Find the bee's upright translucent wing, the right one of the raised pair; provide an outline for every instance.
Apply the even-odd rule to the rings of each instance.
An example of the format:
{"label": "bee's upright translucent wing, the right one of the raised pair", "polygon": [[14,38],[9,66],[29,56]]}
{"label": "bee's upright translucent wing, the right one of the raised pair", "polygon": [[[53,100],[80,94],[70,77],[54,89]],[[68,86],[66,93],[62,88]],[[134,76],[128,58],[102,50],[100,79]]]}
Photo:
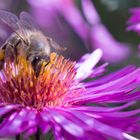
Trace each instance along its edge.
{"label": "bee's upright translucent wing, the right one of the raised pair", "polygon": [[38,25],[34,21],[34,19],[28,14],[27,12],[21,12],[20,14],[20,25],[22,25],[24,28],[31,30],[31,31],[37,31],[39,30]]}

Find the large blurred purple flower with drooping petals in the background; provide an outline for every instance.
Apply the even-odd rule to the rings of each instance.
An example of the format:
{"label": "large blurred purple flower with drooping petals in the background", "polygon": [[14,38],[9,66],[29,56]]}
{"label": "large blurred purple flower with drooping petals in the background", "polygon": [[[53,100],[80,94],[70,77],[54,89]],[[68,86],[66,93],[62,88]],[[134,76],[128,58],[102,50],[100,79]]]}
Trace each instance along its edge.
{"label": "large blurred purple flower with drooping petals in the background", "polygon": [[[72,40],[71,30],[68,25],[82,39],[86,48],[90,50],[101,48],[104,60],[117,63],[128,56],[128,45],[120,43],[112,37],[102,24],[91,0],[81,1],[81,10],[85,18],[76,6],[75,0],[28,0],[28,2],[32,6],[33,14],[39,24],[57,42],[62,43],[65,40],[64,44],[68,46],[71,53],[77,45],[75,40]],[[80,52],[79,48],[76,49]]]}

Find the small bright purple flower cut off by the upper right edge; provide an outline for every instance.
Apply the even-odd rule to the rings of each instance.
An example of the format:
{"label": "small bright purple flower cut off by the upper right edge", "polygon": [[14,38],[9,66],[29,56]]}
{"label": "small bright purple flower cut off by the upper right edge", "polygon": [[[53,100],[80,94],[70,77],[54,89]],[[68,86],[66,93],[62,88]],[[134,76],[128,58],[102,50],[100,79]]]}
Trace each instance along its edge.
{"label": "small bright purple flower cut off by the upper right edge", "polygon": [[140,33],[140,8],[132,8],[130,9],[130,13],[132,16],[128,20],[127,30],[133,30]]}

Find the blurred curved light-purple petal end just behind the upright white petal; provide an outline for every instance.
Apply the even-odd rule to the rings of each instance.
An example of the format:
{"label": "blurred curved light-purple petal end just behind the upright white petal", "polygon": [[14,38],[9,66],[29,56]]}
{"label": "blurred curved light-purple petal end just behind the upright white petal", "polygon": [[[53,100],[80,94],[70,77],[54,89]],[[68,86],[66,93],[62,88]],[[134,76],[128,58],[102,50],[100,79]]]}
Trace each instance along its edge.
{"label": "blurred curved light-purple petal end just behind the upright white petal", "polygon": [[117,42],[102,24],[92,28],[91,41],[94,48],[102,49],[104,60],[111,63],[122,61],[129,55],[128,45]]}

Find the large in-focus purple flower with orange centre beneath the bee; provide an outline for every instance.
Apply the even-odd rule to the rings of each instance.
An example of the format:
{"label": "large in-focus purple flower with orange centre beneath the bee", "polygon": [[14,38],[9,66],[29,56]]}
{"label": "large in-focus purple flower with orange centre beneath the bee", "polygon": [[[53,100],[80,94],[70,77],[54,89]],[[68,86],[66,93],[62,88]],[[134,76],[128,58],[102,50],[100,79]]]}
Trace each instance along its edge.
{"label": "large in-focus purple flower with orange centre beneath the bee", "polygon": [[105,71],[106,64],[95,67],[101,56],[97,49],[74,63],[52,53],[38,76],[23,56],[6,60],[0,71],[0,137],[37,139],[51,130],[57,140],[137,140],[130,134],[140,131],[140,110],[125,109],[140,99],[140,69],[128,66],[85,82]]}

